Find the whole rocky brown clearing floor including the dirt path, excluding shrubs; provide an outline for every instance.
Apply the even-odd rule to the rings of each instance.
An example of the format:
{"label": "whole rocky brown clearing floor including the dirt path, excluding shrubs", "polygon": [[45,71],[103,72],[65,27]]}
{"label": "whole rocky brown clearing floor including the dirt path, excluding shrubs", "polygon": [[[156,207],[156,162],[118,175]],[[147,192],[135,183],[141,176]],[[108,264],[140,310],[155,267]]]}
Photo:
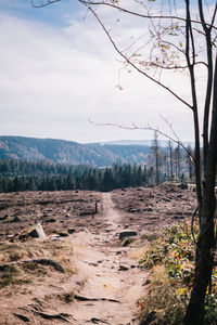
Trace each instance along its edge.
{"label": "whole rocky brown clearing floor including the dirt path, excluding shrubs", "polygon": [[[0,324],[139,324],[142,238],[194,209],[195,194],[171,184],[0,194]],[[21,236],[38,222],[46,238]]]}

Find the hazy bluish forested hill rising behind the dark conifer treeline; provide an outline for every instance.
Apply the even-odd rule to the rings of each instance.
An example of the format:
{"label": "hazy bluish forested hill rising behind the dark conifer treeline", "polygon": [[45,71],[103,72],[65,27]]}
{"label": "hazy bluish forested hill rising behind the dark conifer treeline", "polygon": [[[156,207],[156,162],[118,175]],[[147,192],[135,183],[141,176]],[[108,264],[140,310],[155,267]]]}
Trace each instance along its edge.
{"label": "hazy bluish forested hill rising behind the dark conifer treeline", "polygon": [[0,136],[0,159],[47,160],[104,167],[117,160],[144,164],[149,152],[148,145],[80,144],[54,139]]}

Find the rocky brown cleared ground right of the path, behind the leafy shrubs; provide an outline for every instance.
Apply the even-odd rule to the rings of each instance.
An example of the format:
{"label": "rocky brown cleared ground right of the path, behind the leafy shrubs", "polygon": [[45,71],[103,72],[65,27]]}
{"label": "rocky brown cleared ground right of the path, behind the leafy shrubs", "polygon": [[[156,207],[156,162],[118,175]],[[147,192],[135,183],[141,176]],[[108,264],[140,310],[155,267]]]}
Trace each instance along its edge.
{"label": "rocky brown cleared ground right of the path, behind the leafy shrubs", "polygon": [[195,192],[166,182],[153,188],[113,191],[113,200],[122,213],[122,223],[144,232],[177,221],[183,223],[196,208]]}

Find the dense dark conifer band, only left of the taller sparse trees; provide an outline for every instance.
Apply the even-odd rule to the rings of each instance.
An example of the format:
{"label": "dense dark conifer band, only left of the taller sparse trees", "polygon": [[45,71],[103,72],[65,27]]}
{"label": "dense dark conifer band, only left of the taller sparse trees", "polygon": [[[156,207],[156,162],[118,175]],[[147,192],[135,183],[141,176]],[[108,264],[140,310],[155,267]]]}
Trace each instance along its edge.
{"label": "dense dark conifer band, only left of the taller sparse trees", "polygon": [[90,190],[153,186],[153,167],[116,164],[110,168],[0,160],[0,192]]}

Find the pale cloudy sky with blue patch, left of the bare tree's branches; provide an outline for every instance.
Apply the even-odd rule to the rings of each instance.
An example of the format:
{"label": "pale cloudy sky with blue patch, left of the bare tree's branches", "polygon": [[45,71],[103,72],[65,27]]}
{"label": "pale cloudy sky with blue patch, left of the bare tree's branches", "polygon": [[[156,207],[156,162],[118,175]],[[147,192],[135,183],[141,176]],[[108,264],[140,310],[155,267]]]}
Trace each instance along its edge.
{"label": "pale cloudy sky with blue patch, left of the bare tree's branches", "polygon": [[[117,21],[111,12],[106,18],[111,25]],[[125,24],[117,34],[124,40],[145,27]],[[153,131],[95,123],[150,123],[169,132],[163,116],[182,141],[193,140],[191,110],[124,69],[98,22],[77,0],[41,9],[29,0],[1,0],[0,48],[0,135],[79,143],[152,139]],[[184,79],[167,78],[188,99]]]}

